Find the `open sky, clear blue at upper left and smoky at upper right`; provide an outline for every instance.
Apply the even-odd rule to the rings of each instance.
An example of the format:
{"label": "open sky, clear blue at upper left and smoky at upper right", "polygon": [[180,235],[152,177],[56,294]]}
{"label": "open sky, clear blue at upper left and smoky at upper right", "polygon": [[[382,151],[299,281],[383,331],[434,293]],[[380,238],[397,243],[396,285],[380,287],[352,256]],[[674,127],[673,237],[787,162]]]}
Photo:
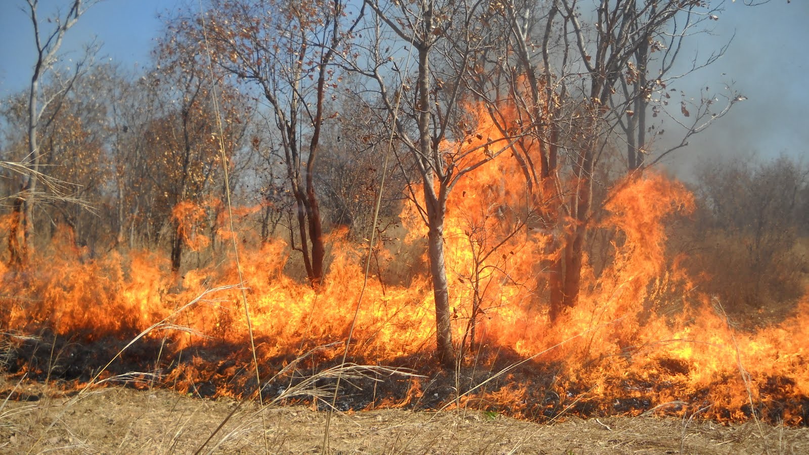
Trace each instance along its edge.
{"label": "open sky, clear blue at upper left and smoky at upper right", "polygon": [[[125,68],[147,64],[163,28],[158,13],[189,1],[104,0],[70,29],[62,49],[68,58],[78,57],[83,45],[95,37],[102,44],[99,57]],[[40,15],[60,5],[64,10],[68,3],[40,0]],[[22,90],[32,74],[33,32],[22,6],[24,0],[0,0],[0,98]],[[667,165],[679,173],[688,172],[705,157],[755,153],[767,159],[784,153],[802,159],[809,150],[809,0],[772,0],[756,7],[744,6],[743,0],[726,0],[713,34],[693,36],[693,48],[684,57],[695,52],[704,56],[734,32],[722,59],[676,87],[698,96],[698,87],[732,83],[748,100],[692,138],[687,149],[672,154]]]}

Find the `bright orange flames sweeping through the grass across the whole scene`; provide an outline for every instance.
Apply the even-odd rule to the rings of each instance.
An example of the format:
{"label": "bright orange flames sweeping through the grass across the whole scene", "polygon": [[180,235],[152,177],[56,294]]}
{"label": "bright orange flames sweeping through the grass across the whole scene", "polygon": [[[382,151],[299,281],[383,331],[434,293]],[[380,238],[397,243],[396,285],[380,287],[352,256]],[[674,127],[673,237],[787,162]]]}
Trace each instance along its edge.
{"label": "bright orange flames sweeping through the grass across the whole scene", "polygon": [[[506,141],[485,116],[477,121],[476,134],[444,147],[484,154],[490,151],[482,144],[491,143],[493,149]],[[539,265],[559,253],[547,248],[551,236],[559,233],[531,225],[531,204],[519,172],[515,157],[502,153],[453,189],[445,226],[447,274],[453,336],[456,344],[464,344],[462,363],[495,368],[502,364],[498,353],[513,352],[532,358],[526,365],[536,374],[527,375],[524,366],[520,375],[506,372],[498,381],[518,383],[480,389],[464,395],[463,402],[482,396],[515,415],[534,418],[563,410],[632,414],[661,406],[672,413],[700,410],[701,416],[723,420],[748,419],[755,412],[807,424],[809,297],[778,325],[735,327],[725,316],[724,303],[695,289],[679,266],[680,258],[667,252],[667,219],[693,209],[693,195],[683,185],[646,172],[612,189],[606,215],[594,227],[616,233],[609,244],[610,260],[599,270],[587,267],[578,305],[552,323],[543,304],[544,271]],[[413,193],[418,198],[418,190]],[[249,214],[252,209],[242,210]],[[203,213],[190,202],[174,212],[176,222],[185,226],[184,240],[194,249],[208,246],[208,237],[197,229]],[[239,240],[244,239],[241,272],[265,373],[273,364],[345,340],[369,246],[388,268],[400,266],[401,251],[420,248],[425,231],[412,202],[401,219],[407,232],[399,245],[355,245],[344,232],[332,235],[332,262],[317,291],[286,273],[294,254],[285,241],[257,245],[246,228],[236,228]],[[227,229],[219,234],[230,238]],[[88,257],[63,228],[28,270],[0,265],[2,321],[7,330],[36,334],[47,327],[78,343],[131,339],[156,321],[168,321],[173,325],[146,335],[164,340],[162,352],[173,367],[165,367],[163,381],[180,389],[213,381],[218,393],[238,395],[249,383],[244,371],[250,368],[241,291],[205,295],[177,312],[211,287],[239,283],[233,252],[221,249],[218,254],[210,265],[177,276],[158,253],[112,251]],[[349,357],[408,364],[402,359],[429,352],[434,344],[430,281],[423,275],[409,283],[385,283],[384,278],[365,284]],[[341,346],[321,351],[318,361],[337,359]],[[230,347],[232,358],[198,354],[217,347]],[[188,349],[197,354],[180,359]],[[43,367],[20,368],[36,372]],[[422,385],[413,383],[406,399],[418,393]]]}

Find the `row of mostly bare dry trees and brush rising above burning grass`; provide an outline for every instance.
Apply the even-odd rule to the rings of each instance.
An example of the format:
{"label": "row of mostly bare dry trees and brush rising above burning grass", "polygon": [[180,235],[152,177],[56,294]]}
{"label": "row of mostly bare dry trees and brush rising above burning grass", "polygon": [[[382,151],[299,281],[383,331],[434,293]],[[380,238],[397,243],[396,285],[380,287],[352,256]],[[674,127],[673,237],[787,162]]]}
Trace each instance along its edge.
{"label": "row of mostly bare dry trees and brush rising above burning grass", "polygon": [[[66,33],[84,11],[71,5],[42,19],[40,33]],[[578,303],[582,274],[609,261],[599,253],[611,241],[599,226],[609,189],[744,100],[732,87],[697,98],[675,87],[677,49],[721,6],[209,0],[168,17],[153,61],[137,72],[92,65],[91,54],[57,71],[48,56],[61,40],[42,40],[31,87],[2,104],[2,260],[24,267],[62,226],[87,257],[160,249],[176,271],[192,265],[189,250],[215,257],[233,235],[281,237],[299,278],[317,288],[328,233],[347,228],[368,241],[382,189],[376,236],[400,236],[405,206],[424,228],[439,358],[452,364],[451,195],[486,169],[508,177],[478,185],[478,206],[453,208],[468,211],[469,276],[500,270],[499,249],[520,235],[541,236],[530,273],[557,320]],[[683,248],[705,265],[705,286],[752,304],[794,297],[797,284],[777,283],[805,267],[795,249],[805,176],[786,159],[716,164],[699,176],[697,228]],[[228,202],[241,207],[237,233]],[[750,289],[711,266],[725,258]]]}

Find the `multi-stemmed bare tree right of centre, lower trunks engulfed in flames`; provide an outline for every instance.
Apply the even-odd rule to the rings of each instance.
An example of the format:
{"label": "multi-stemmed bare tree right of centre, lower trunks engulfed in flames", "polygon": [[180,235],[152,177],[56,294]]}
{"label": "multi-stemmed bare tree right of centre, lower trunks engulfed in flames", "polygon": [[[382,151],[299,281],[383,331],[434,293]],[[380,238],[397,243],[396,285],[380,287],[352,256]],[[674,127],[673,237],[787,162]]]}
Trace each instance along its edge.
{"label": "multi-stemmed bare tree right of centre, lower trunks engulfed in flames", "polygon": [[[716,7],[701,1],[615,0],[586,7],[578,0],[498,4],[489,23],[506,39],[487,46],[481,58],[489,70],[467,79],[504,134],[511,118],[522,125],[517,134],[523,139],[515,142],[513,155],[540,214],[538,228],[552,239],[541,267],[552,320],[578,301],[587,232],[598,213],[595,175],[605,151],[625,142],[629,171],[642,170],[651,139],[663,134],[649,125],[650,105],[652,117],[667,113],[667,78],[683,41],[701,23],[718,18]],[[709,65],[723,51],[694,61],[685,72]],[[667,113],[685,133],[649,165],[687,145],[741,99],[731,93],[717,106],[716,96],[701,95],[696,108],[683,95],[680,112]],[[619,128],[623,137],[614,133]]]}

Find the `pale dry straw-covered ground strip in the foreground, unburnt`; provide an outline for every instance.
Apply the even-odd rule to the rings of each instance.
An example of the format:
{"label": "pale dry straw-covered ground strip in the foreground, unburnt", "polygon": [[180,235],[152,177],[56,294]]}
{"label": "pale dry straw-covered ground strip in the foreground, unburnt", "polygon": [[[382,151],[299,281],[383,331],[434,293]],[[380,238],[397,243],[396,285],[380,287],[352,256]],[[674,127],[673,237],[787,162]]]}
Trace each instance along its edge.
{"label": "pale dry straw-covered ground strip in the foreground, unburnt", "polygon": [[[40,383],[5,382],[0,389],[0,453],[323,449],[326,414],[303,406],[268,408],[163,389],[112,387],[72,396]],[[388,409],[333,415],[328,453],[797,454],[809,453],[809,428],[725,426],[654,416],[568,418],[540,425],[471,410]]]}

